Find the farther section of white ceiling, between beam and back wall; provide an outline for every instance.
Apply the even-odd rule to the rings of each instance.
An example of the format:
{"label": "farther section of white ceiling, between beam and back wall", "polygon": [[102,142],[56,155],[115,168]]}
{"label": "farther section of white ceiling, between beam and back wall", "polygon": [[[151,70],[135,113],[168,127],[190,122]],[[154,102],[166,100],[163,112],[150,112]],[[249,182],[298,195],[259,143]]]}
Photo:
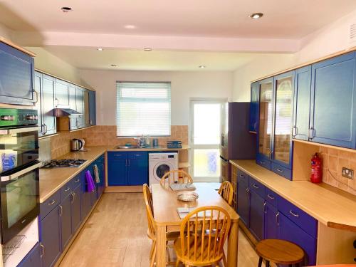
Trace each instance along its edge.
{"label": "farther section of white ceiling, between beam and back wall", "polygon": [[[76,68],[102,70],[236,70],[263,55],[197,51],[146,52],[115,48],[97,51],[96,48],[75,46],[48,46],[45,49]],[[199,68],[201,65],[206,68]]]}

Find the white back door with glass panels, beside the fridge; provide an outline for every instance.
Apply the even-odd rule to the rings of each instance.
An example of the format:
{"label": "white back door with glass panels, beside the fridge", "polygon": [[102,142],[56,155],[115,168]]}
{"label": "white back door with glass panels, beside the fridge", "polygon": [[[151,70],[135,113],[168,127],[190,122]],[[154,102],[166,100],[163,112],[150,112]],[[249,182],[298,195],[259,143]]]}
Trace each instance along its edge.
{"label": "white back door with glass panels, beside the fridge", "polygon": [[191,147],[194,181],[219,182],[223,101],[192,101]]}

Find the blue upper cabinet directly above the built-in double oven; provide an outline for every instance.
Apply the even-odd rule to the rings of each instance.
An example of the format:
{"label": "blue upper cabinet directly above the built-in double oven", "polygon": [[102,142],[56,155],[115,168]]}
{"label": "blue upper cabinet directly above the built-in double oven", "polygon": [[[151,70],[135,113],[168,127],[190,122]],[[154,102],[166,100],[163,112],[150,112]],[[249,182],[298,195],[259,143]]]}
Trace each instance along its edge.
{"label": "blue upper cabinet directly above the built-in double oven", "polygon": [[34,60],[0,42],[0,103],[34,105]]}

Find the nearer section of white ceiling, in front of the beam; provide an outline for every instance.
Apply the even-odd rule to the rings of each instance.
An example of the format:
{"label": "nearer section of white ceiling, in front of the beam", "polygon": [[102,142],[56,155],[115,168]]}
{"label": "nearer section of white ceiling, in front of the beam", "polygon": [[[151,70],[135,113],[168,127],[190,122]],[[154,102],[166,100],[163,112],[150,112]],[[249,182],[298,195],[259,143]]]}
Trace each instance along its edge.
{"label": "nearer section of white ceiling, in front of the beam", "polygon": [[[355,0],[2,0],[0,23],[15,31],[300,38],[354,9]],[[253,12],[265,16],[248,18]]]}

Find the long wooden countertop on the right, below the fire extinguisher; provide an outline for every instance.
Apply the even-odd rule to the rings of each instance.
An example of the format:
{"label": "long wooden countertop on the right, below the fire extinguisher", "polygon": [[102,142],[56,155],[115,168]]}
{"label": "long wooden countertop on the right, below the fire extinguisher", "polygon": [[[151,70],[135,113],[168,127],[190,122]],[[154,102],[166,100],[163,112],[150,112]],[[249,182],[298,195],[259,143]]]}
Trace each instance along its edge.
{"label": "long wooden countertop on the right, below the fire extinguisher", "polygon": [[289,181],[259,166],[255,160],[230,162],[320,223],[336,229],[356,231],[356,197],[352,194],[324,183]]}

